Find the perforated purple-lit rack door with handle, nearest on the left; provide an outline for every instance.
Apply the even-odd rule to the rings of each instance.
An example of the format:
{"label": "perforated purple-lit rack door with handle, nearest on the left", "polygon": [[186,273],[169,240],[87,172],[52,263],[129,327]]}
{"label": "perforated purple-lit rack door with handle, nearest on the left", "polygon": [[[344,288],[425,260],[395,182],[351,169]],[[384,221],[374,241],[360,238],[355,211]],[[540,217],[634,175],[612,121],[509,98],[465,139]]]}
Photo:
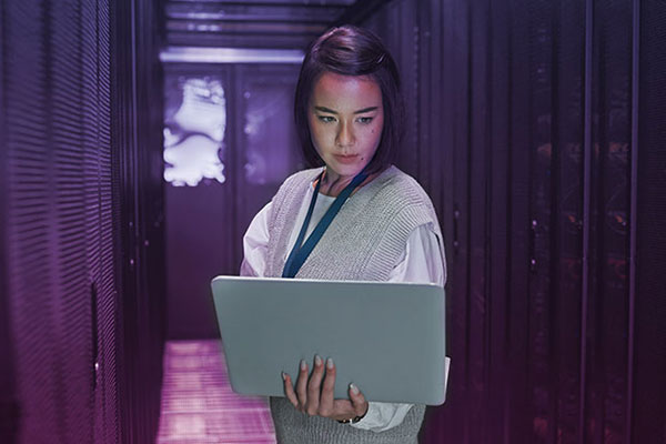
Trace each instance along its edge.
{"label": "perforated purple-lit rack door with handle, nearest on the left", "polygon": [[12,434],[117,442],[109,4],[2,8]]}

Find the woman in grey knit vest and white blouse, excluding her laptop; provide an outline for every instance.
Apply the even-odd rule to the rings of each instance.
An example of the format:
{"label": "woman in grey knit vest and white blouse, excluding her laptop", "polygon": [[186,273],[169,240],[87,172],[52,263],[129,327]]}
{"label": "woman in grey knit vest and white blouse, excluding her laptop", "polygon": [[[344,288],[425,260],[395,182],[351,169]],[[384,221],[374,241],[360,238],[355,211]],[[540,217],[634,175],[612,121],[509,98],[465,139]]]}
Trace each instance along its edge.
{"label": "woman in grey knit vest and white blouse, excluding her laptop", "polygon": [[[287,178],[244,236],[242,275],[432,282],[444,285],[442,234],[418,183],[391,164],[404,113],[393,58],[370,31],[345,26],[310,47],[295,122],[312,169]],[[312,234],[312,235],[311,235]],[[306,333],[306,332],[304,332]],[[334,334],[334,332],[332,332]],[[325,356],[324,356],[325,357]],[[271,398],[279,443],[415,443],[424,405],[334,400],[335,363],[300,363]]]}

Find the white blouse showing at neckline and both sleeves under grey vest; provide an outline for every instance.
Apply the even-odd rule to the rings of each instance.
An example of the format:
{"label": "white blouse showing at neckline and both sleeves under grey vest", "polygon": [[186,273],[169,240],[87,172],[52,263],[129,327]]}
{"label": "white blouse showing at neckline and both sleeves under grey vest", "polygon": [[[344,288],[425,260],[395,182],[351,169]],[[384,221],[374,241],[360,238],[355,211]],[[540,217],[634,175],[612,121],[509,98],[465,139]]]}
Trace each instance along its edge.
{"label": "white blouse showing at neckline and both sleeves under grey vest", "polygon": [[[300,228],[307,214],[313,192],[313,186],[311,186],[305,199],[303,199],[299,216],[294,222],[294,230],[291,233],[289,243],[291,246],[289,251],[284,252],[284,258],[286,258],[291,248],[296,242]],[[307,239],[334,200],[334,196],[319,193],[304,240]],[[245,232],[243,238],[244,259],[241,264],[242,276],[264,275],[266,266],[265,255],[270,236],[268,221],[271,205],[272,202],[269,202],[254,216]],[[432,223],[414,229],[407,240],[405,251],[389,275],[389,282],[435,283],[444,286],[446,275],[438,245],[441,241],[433,231]],[[360,389],[363,391],[363,387]],[[370,402],[366,415],[359,423],[352,424],[352,426],[373,432],[383,432],[400,425],[411,407],[412,404]]]}

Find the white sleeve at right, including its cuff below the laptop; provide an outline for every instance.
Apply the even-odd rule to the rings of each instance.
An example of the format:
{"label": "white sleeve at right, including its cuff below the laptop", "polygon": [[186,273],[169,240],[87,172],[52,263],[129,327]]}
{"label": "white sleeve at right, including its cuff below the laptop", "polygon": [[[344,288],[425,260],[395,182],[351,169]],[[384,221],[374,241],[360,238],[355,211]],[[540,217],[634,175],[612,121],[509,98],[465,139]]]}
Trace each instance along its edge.
{"label": "white sleeve at right, including its cuff below the laptop", "polygon": [[[446,264],[440,250],[441,239],[432,223],[420,225],[407,240],[407,245],[397,261],[389,282],[435,283],[444,286]],[[400,425],[413,404],[370,402],[367,413],[353,427],[372,432],[384,432]]]}

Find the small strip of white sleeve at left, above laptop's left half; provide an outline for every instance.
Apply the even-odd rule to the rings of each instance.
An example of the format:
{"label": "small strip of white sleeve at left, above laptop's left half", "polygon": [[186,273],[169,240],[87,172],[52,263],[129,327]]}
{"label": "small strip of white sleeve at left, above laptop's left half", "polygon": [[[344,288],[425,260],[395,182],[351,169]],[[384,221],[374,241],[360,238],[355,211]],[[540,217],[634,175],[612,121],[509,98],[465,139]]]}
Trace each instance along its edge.
{"label": "small strip of white sleeve at left, above laptop's left half", "polygon": [[262,278],[266,270],[266,249],[269,245],[269,215],[273,202],[269,202],[248,226],[243,236],[243,262],[241,276]]}

